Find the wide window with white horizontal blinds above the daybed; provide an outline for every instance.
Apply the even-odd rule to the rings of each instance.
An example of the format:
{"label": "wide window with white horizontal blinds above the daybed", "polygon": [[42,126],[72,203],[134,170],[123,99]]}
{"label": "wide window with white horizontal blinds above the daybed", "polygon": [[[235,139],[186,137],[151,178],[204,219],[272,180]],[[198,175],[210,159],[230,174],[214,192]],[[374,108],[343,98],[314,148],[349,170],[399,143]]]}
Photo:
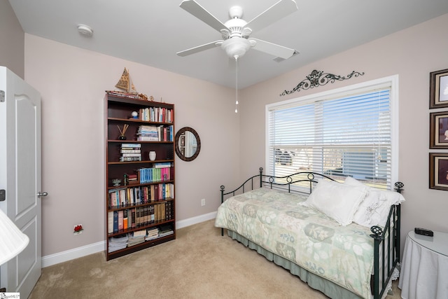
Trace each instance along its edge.
{"label": "wide window with white horizontal blinds above the daybed", "polygon": [[266,106],[267,174],[345,176],[391,189],[398,174],[398,76]]}

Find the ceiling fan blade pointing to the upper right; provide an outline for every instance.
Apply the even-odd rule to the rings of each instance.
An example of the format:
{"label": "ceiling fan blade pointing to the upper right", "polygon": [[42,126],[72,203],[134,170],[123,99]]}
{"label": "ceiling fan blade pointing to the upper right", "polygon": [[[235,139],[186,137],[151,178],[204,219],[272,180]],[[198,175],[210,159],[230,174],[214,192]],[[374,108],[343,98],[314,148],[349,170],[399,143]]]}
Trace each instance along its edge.
{"label": "ceiling fan blade pointing to the upper right", "polygon": [[253,18],[244,27],[250,28],[252,31],[260,30],[295,11],[297,11],[297,4],[294,0],[280,0],[273,6],[267,8],[266,11]]}

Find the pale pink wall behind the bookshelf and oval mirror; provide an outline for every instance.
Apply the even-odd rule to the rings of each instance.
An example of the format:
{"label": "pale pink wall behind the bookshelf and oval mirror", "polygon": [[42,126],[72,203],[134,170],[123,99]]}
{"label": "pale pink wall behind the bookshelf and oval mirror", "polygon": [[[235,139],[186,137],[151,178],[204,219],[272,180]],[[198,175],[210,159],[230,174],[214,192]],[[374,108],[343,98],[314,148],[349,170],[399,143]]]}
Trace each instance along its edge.
{"label": "pale pink wall behind the bookshelf and oval mirror", "polygon": [[[234,90],[29,34],[25,41],[25,78],[42,96],[43,256],[105,239],[104,91],[125,67],[137,91],[175,104],[176,130],[200,134],[199,157],[176,158],[177,221],[216,211],[219,186],[237,183]],[[73,236],[78,223],[83,234]]]}

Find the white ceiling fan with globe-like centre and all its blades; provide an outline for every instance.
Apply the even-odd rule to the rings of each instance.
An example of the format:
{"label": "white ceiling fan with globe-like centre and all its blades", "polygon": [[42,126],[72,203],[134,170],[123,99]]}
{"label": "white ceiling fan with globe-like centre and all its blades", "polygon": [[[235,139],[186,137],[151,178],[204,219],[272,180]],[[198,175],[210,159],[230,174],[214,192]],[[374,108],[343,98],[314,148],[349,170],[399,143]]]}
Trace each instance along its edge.
{"label": "white ceiling fan with globe-like centre and all its blades", "polygon": [[243,15],[241,6],[232,6],[230,8],[230,20],[225,23],[215,18],[214,15],[206,11],[195,0],[184,0],[180,6],[188,13],[202,20],[202,22],[221,32],[223,39],[180,51],[176,53],[179,56],[191,55],[218,46],[221,46],[225,53],[229,57],[235,58],[235,60],[243,56],[250,48],[273,55],[275,57],[274,60],[286,60],[298,53],[294,49],[250,37],[252,32],[267,27],[273,22],[286,17],[286,15],[297,11],[297,4],[294,0],[280,0],[249,22],[241,18]]}

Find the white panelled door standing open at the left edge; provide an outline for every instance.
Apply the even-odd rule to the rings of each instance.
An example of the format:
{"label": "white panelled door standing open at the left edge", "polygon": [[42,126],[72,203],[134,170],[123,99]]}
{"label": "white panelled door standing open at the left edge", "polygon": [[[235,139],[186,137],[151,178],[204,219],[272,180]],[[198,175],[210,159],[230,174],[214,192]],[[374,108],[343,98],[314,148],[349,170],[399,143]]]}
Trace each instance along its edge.
{"label": "white panelled door standing open at the left edge", "polygon": [[[0,266],[0,288],[28,298],[41,276],[41,95],[0,67],[0,198],[29,237],[27,248]],[[1,241],[0,241],[1,242]]]}

